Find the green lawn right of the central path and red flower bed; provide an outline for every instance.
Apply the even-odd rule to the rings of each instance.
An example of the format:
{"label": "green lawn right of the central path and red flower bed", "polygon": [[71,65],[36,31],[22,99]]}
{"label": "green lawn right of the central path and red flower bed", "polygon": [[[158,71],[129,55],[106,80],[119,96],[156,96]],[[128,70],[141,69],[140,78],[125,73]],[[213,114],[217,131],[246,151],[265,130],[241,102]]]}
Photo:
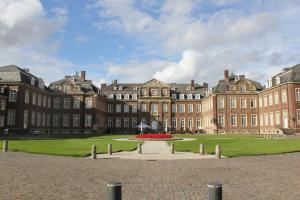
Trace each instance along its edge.
{"label": "green lawn right of the central path and red flower bed", "polygon": [[194,141],[176,141],[176,151],[199,152],[199,145],[205,145],[205,152],[213,154],[220,144],[222,155],[227,157],[278,154],[300,151],[300,138],[263,139],[261,136],[247,135],[176,135],[195,138]]}

